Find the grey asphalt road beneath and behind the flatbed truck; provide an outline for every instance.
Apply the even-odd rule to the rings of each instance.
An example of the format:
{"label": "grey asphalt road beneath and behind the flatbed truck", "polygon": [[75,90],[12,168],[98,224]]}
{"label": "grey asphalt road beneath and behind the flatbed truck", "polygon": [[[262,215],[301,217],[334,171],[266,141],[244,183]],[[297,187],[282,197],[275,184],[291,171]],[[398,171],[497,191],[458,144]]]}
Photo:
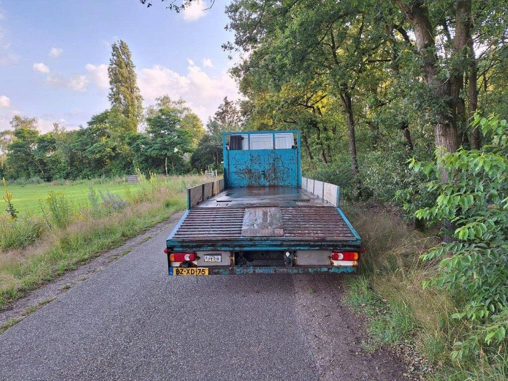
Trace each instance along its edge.
{"label": "grey asphalt road beneath and behind the flatbed truck", "polygon": [[0,379],[402,379],[360,353],[337,276],[170,277],[170,230],[0,335]]}

